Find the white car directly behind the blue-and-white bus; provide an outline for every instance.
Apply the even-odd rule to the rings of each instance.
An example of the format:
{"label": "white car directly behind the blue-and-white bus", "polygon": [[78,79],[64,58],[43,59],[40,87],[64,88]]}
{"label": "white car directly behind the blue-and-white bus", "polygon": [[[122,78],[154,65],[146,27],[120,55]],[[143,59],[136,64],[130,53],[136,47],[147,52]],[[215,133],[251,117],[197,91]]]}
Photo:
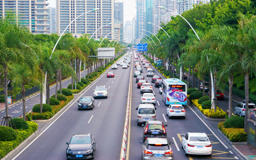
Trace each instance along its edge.
{"label": "white car directly behind the blue-and-white bus", "polygon": [[186,111],[181,104],[170,104],[166,108],[166,115],[169,119],[172,117],[183,117],[185,119]]}

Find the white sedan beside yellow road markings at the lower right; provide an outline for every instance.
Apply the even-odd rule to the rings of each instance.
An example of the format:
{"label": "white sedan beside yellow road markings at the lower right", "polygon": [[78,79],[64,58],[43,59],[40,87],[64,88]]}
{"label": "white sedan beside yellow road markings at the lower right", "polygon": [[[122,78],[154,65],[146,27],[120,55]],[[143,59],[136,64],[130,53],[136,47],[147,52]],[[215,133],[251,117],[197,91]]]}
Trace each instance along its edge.
{"label": "white sedan beside yellow road markings at the lower right", "polygon": [[206,154],[211,156],[212,147],[209,137],[205,133],[186,133],[181,136],[182,148],[185,155],[188,154]]}

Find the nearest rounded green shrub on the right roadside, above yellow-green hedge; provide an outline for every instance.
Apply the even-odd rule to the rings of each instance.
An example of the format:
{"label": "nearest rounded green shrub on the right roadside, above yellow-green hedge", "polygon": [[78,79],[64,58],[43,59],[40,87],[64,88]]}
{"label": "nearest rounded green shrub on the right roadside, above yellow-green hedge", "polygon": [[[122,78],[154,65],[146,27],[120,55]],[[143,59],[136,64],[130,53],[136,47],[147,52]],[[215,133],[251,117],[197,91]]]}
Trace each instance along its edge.
{"label": "nearest rounded green shrub on the right roadside, above yellow-green hedge", "polygon": [[225,128],[244,128],[244,118],[232,116],[224,122]]}

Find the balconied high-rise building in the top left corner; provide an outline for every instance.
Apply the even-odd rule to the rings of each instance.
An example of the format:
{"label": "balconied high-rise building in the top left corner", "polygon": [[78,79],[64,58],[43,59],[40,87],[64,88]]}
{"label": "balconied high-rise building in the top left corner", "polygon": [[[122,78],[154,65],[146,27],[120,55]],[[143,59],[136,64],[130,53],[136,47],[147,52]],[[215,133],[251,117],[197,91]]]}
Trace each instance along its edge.
{"label": "balconied high-rise building in the top left corner", "polygon": [[18,23],[32,33],[49,33],[48,0],[0,1],[0,18],[8,12],[17,15]]}

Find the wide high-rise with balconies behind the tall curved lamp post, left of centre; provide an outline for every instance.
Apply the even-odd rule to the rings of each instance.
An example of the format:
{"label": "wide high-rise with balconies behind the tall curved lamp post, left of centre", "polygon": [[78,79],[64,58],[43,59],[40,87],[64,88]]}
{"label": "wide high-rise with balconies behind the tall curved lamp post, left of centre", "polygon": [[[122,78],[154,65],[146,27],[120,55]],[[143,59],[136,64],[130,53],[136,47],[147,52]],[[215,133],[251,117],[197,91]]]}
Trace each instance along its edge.
{"label": "wide high-rise with balconies behind the tall curved lamp post, left of centre", "polygon": [[[94,12],[84,14],[94,8],[99,8]],[[114,0],[58,0],[56,1],[57,33],[62,33],[65,28],[76,17],[80,16],[68,27],[67,33],[72,33],[75,37],[82,34],[95,35],[93,38],[99,39],[110,32],[106,38],[114,37]],[[112,23],[112,25],[105,26]],[[102,26],[105,26],[101,28]]]}

